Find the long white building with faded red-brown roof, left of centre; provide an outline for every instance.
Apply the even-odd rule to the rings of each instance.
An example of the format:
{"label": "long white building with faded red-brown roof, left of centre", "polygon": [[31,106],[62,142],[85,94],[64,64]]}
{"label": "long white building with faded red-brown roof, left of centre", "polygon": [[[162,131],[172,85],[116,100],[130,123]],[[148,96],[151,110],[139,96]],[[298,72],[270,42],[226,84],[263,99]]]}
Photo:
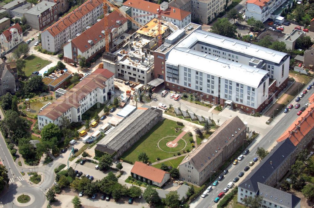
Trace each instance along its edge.
{"label": "long white building with faded red-brown roof, left of centre", "polygon": [[62,116],[71,123],[81,121],[82,114],[96,103],[104,103],[111,90],[114,90],[114,74],[106,69],[95,70],[52,104],[43,107],[37,114],[39,130],[48,123],[60,126]]}

